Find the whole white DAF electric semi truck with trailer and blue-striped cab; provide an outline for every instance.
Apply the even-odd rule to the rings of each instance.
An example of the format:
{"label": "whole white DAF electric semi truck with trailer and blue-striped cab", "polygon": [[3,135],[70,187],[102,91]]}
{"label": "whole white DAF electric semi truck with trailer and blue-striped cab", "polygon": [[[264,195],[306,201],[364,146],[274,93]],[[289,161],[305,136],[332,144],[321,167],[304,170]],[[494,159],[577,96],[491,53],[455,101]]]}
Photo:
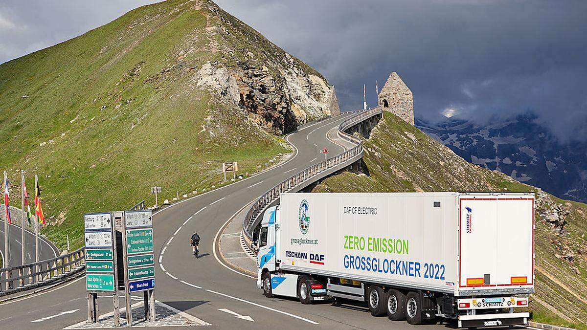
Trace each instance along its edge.
{"label": "whole white DAF electric semi truck with trailer and blue-striped cab", "polygon": [[265,211],[257,286],[366,302],[417,325],[527,324],[534,193],[286,193]]}

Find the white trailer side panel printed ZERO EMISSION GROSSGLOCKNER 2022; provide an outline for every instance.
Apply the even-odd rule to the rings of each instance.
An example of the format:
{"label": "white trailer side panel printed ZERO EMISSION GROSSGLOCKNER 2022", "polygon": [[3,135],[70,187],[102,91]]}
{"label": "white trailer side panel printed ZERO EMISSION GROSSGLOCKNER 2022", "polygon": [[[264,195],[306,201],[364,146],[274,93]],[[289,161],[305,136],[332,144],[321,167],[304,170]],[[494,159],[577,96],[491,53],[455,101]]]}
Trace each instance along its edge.
{"label": "white trailer side panel printed ZERO EMISSION GROSSGLOCKNER 2022", "polygon": [[455,292],[457,193],[291,193],[280,203],[284,270]]}

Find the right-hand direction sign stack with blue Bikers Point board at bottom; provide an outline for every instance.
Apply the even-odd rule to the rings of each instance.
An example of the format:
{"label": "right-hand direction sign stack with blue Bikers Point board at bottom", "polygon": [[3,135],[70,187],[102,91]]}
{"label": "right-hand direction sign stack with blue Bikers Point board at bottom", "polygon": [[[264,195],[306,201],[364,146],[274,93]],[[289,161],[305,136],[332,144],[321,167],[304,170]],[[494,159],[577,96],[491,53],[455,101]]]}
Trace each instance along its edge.
{"label": "right-hand direction sign stack with blue Bikers Point board at bottom", "polygon": [[124,211],[122,221],[126,322],[132,326],[130,294],[143,292],[145,319],[155,321],[155,257],[153,254],[153,213]]}

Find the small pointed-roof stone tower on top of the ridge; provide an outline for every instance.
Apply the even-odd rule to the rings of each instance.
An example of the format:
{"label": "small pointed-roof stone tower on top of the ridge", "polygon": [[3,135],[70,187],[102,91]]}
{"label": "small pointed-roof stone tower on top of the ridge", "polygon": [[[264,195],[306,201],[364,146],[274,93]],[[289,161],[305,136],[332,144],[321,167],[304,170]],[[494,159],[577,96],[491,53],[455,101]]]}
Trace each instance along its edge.
{"label": "small pointed-roof stone tower on top of the ridge", "polygon": [[396,72],[387,78],[385,86],[377,95],[377,102],[383,110],[392,112],[406,122],[414,124],[414,98],[411,90]]}

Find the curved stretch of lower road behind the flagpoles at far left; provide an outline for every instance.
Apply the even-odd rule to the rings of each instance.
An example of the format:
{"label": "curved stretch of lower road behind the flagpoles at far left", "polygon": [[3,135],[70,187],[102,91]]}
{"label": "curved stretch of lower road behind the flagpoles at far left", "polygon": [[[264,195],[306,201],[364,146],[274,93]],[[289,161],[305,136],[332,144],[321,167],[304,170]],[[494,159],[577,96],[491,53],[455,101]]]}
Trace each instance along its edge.
{"label": "curved stretch of lower road behind the flagpoles at far left", "polygon": [[[8,254],[4,251],[4,220],[0,221],[0,254],[2,254],[2,267],[14,267],[22,265],[21,257],[21,227],[8,226]],[[39,235],[39,261],[55,258],[59,254],[58,249],[48,240]],[[26,230],[25,226],[25,264],[35,262],[35,233]],[[0,317],[2,319],[2,317]]]}

